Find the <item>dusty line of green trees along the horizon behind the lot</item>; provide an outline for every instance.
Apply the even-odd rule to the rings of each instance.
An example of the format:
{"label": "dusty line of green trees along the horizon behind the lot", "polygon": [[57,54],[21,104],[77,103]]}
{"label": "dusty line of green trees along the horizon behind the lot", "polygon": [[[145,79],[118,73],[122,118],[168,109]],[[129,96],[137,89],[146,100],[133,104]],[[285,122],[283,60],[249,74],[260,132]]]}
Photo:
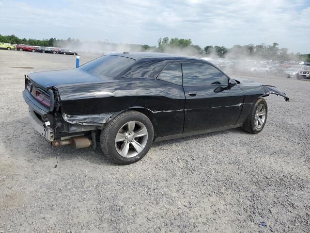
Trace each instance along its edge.
{"label": "dusty line of green trees along the horizon behind the lot", "polygon": [[[47,47],[83,47],[83,43],[78,39],[68,38],[63,39],[26,39],[18,38],[16,35],[1,35],[0,42],[11,44],[27,44],[34,46],[47,46]],[[100,48],[108,48],[109,50],[117,50],[120,48],[120,44],[111,43],[107,41],[95,42]],[[92,44],[92,42],[88,42]],[[272,60],[284,60],[284,61],[307,61],[310,62],[310,54],[288,53],[287,48],[279,48],[279,44],[274,42],[272,45],[260,44],[248,44],[248,45],[234,45],[232,48],[226,48],[225,46],[205,46],[201,48],[199,45],[192,44],[191,39],[179,39],[178,37],[170,38],[164,37],[158,39],[157,46],[139,45],[139,44],[125,44],[126,48],[130,51],[157,51],[157,52],[174,52],[174,53],[186,53],[186,55],[201,55],[201,56],[217,56],[222,58],[242,59],[242,58],[259,58],[259,59],[272,59]]]}

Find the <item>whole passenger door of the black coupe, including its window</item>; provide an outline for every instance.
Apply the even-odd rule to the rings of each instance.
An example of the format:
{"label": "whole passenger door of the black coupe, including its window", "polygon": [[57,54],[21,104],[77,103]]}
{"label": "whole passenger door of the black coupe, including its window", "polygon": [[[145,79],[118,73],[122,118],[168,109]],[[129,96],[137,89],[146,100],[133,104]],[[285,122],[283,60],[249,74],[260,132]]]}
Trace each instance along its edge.
{"label": "whole passenger door of the black coupe, including its window", "polygon": [[[240,116],[243,91],[216,67],[203,63],[182,63],[185,91],[184,133],[234,125]],[[218,89],[223,89],[218,92]],[[225,89],[226,88],[226,89]]]}

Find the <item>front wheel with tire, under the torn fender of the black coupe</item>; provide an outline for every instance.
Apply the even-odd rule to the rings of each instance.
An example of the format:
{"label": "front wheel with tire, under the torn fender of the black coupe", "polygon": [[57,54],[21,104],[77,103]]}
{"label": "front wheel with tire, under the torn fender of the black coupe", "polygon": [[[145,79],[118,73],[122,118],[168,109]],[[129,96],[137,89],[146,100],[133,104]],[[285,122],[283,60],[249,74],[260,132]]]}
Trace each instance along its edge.
{"label": "front wheel with tire, under the torn fender of the black coupe", "polygon": [[252,106],[247,120],[243,123],[243,129],[248,133],[260,133],[265,126],[267,112],[266,100],[259,98]]}

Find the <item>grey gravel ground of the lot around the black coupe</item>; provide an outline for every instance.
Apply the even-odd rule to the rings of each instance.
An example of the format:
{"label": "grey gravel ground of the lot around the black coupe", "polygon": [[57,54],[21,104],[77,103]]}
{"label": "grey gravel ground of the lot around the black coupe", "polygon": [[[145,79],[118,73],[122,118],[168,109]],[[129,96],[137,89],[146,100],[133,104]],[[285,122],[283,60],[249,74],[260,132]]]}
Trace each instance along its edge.
{"label": "grey gravel ground of the lot around the black coupe", "polygon": [[100,149],[51,148],[30,126],[24,74],[74,66],[75,56],[0,50],[0,233],[310,232],[310,82],[251,77],[291,98],[266,98],[262,133],[155,143],[116,166]]}

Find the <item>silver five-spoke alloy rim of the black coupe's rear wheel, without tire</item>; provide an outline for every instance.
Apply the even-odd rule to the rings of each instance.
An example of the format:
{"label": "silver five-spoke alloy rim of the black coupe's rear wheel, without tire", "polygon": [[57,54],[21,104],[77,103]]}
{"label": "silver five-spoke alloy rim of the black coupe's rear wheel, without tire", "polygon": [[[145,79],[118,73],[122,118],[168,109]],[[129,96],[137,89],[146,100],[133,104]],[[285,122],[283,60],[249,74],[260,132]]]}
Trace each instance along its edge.
{"label": "silver five-spoke alloy rim of the black coupe's rear wheel, without tire", "polygon": [[140,121],[129,121],[116,134],[116,151],[125,158],[132,158],[140,154],[145,148],[148,132]]}

